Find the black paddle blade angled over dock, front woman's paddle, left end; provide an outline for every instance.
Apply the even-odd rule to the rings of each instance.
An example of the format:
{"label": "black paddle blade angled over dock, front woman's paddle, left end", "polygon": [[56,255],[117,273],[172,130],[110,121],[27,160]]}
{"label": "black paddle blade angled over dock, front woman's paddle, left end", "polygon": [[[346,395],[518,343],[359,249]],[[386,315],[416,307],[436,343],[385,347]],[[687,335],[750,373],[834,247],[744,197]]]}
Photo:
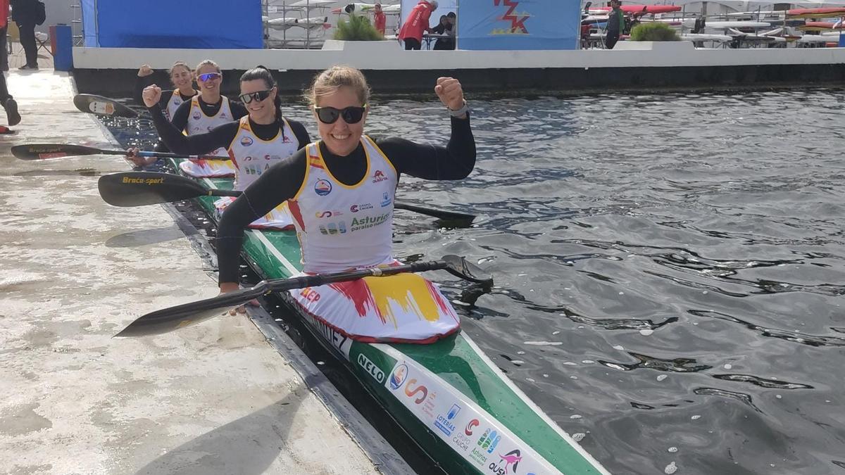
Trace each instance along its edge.
{"label": "black paddle blade angled over dock, front woman's paddle, left end", "polygon": [[207,319],[213,319],[226,314],[230,308],[243,305],[254,298],[260,297],[266,292],[265,288],[259,284],[252,288],[229,292],[197,302],[162,308],[150,314],[142,315],[115,335],[115,338],[161,335],[162,333],[177,330],[188,325],[195,325]]}

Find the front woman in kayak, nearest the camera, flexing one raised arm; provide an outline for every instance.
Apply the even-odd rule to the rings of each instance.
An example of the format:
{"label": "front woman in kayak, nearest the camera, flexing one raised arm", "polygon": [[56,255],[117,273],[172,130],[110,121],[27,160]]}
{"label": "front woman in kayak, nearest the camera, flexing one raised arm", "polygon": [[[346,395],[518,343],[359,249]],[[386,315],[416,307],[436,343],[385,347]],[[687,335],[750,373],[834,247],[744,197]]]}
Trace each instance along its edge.
{"label": "front woman in kayak, nearest the camera, flexing one raised arm", "polygon": [[[294,218],[305,272],[395,265],[391,225],[401,173],[457,180],[475,166],[475,139],[461,83],[439,78],[434,92],[451,116],[448,145],[398,137],[373,140],[363,135],[369,101],[363,74],[349,67],[319,74],[308,99],[321,140],[264,173],[223,215],[217,234],[221,292],[238,287],[244,227],[283,202]],[[291,293],[313,318],[361,341],[429,342],[459,328],[448,301],[415,274]]]}

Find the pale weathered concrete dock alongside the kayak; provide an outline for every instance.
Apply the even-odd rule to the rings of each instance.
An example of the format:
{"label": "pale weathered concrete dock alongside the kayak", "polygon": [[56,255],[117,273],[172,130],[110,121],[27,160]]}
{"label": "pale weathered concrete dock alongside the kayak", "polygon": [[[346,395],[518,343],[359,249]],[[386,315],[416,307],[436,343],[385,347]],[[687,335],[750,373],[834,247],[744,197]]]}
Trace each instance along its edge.
{"label": "pale weathered concrete dock alongside the kayak", "polygon": [[8,85],[23,122],[0,135],[0,472],[378,472],[248,317],[112,339],[215,281],[161,206],[102,202],[96,177],[127,171],[119,157],[14,159],[26,143],[115,145],[76,111],[67,74],[13,71]]}

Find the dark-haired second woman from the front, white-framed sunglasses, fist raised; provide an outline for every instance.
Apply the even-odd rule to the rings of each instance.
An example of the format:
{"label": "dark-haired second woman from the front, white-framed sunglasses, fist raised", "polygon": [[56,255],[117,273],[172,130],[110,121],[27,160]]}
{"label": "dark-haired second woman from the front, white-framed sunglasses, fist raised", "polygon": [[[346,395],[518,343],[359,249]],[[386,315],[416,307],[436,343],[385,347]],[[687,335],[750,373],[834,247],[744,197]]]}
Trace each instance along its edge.
{"label": "dark-haired second woman from the front, white-framed sunglasses, fist raised", "polygon": [[[216,78],[203,79],[201,76],[206,74],[203,70],[198,68],[201,84],[212,81],[213,85],[209,87],[215,87],[219,96],[220,74],[217,74]],[[202,86],[202,89],[206,89],[206,86]],[[223,150],[236,167],[236,189],[246,188],[270,166],[292,156],[310,141],[302,123],[282,116],[281,98],[277,94],[275,80],[270,71],[263,67],[250,69],[241,76],[240,99],[246,105],[244,116],[238,117],[237,122],[230,119],[216,127],[209,126],[210,131],[192,133],[189,130],[188,135],[185,135],[176,120],[173,123],[168,122],[159,106],[160,87],[147,87],[143,97],[155,129],[170,150],[185,155],[207,155],[213,150]],[[194,101],[202,100],[203,97],[200,96]],[[228,102],[222,96],[221,101]],[[237,102],[232,104],[240,106]],[[185,106],[187,104],[179,108],[177,117]],[[220,102],[218,109],[223,109]],[[223,109],[224,112],[225,110]],[[232,110],[235,108],[232,107]],[[192,113],[196,114],[197,111],[194,109]],[[217,114],[217,117],[220,117],[220,114]],[[193,128],[191,123],[188,123],[188,127]]]}

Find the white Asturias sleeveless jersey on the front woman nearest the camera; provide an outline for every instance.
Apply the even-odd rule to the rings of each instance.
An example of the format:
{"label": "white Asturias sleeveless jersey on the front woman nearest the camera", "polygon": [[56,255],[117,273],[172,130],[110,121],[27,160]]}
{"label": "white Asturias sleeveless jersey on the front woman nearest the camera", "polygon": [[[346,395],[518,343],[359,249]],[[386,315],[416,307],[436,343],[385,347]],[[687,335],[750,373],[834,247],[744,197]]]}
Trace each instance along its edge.
{"label": "white Asturias sleeveless jersey on the front woman nearest the camera", "polygon": [[398,174],[367,136],[367,172],[347,186],[331,175],[318,143],[307,147],[302,188],[289,200],[305,272],[379,265],[391,259],[393,199]]}

